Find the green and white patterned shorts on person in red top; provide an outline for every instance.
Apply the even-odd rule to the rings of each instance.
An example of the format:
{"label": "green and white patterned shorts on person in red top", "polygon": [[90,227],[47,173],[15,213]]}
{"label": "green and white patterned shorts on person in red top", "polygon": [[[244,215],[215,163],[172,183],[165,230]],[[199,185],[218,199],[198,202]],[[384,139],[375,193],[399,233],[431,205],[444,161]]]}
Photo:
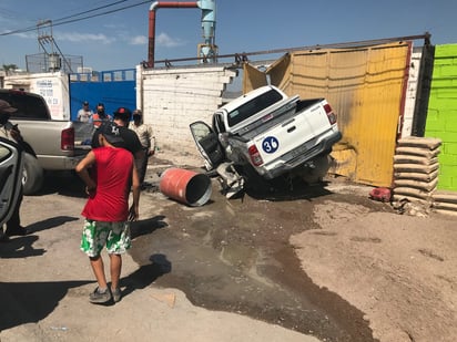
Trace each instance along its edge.
{"label": "green and white patterned shorts on person in red top", "polygon": [[97,257],[105,246],[109,253],[124,253],[131,247],[130,222],[84,220],[81,250],[89,257]]}

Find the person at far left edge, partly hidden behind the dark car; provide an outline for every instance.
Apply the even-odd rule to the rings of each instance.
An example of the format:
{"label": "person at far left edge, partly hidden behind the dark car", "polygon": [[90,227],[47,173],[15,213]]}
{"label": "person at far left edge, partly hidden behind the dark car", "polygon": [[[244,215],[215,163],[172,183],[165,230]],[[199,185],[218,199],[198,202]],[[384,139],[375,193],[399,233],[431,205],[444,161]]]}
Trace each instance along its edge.
{"label": "person at far left edge, partly hidden behind the dark car", "polygon": [[[13,125],[9,120],[10,115],[18,110],[11,106],[7,101],[0,100],[0,136],[9,141],[16,142],[19,146],[24,148],[26,142],[22,138],[21,132],[17,125]],[[28,230],[21,226],[20,207],[22,204],[22,186],[16,207],[13,209],[11,218],[7,221],[7,229],[3,232],[3,228],[0,232],[0,241],[8,241],[11,236],[24,236]]]}

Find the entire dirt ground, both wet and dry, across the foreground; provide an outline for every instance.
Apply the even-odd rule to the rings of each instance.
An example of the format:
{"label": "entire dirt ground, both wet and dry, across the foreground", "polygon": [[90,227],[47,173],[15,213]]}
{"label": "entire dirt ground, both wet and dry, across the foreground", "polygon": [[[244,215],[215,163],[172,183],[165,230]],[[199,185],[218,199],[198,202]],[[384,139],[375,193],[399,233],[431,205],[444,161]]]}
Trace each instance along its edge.
{"label": "entire dirt ground, both wet and dry, across the foreground", "polygon": [[399,215],[370,200],[369,187],[338,178],[232,200],[213,180],[211,200],[191,208],[158,191],[156,179],[201,160],[151,162],[124,298],[112,308],[87,303],[93,277],[77,251],[84,198],[74,189],[26,198],[34,234],[0,249],[2,308],[16,308],[10,317],[2,309],[0,341],[103,340],[88,323],[103,312],[112,341],[150,341],[154,331],[160,341],[457,340],[454,217]]}

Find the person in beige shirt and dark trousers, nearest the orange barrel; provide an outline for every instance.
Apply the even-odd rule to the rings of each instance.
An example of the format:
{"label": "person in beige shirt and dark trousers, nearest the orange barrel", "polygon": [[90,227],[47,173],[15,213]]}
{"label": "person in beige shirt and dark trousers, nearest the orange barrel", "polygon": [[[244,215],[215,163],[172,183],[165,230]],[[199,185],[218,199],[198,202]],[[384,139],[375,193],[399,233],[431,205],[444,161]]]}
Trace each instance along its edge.
{"label": "person in beige shirt and dark trousers, nearest the orange barrel", "polygon": [[152,126],[144,123],[143,113],[141,112],[141,110],[133,111],[133,125],[131,125],[130,127],[133,132],[136,133],[143,147],[143,155],[141,156],[138,165],[140,184],[143,186],[148,169],[148,159],[154,154],[155,151],[155,137],[152,131]]}

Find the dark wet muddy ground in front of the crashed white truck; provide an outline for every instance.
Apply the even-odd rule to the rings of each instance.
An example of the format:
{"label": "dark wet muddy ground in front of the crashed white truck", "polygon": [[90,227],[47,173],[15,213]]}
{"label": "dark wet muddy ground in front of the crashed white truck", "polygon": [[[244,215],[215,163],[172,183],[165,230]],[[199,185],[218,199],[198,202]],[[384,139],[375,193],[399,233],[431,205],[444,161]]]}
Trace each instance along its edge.
{"label": "dark wet muddy ground in front of the crashed white truck", "polygon": [[303,272],[288,239],[319,228],[313,207],[324,200],[379,210],[376,203],[332,193],[325,183],[250,190],[231,200],[219,189],[213,178],[212,198],[201,207],[164,198],[158,183],[143,191],[156,206],[148,225],[133,226],[132,256],[140,265],[161,267],[155,286],[179,288],[206,309],[246,314],[323,341],[374,341],[363,312]]}

